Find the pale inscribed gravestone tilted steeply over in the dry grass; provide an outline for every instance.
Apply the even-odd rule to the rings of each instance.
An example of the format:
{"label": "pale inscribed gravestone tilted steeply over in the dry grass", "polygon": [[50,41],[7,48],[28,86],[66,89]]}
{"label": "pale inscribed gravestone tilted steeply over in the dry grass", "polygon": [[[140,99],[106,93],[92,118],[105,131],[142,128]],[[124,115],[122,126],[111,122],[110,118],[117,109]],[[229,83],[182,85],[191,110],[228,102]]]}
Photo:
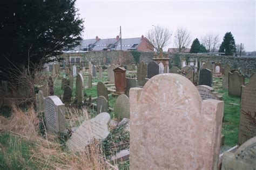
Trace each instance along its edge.
{"label": "pale inscribed gravestone tilted steeply over in the dry grass", "polygon": [[110,115],[103,112],[89,121],[84,121],[72,134],[66,145],[73,152],[84,151],[93,138],[105,139],[109,135]]}

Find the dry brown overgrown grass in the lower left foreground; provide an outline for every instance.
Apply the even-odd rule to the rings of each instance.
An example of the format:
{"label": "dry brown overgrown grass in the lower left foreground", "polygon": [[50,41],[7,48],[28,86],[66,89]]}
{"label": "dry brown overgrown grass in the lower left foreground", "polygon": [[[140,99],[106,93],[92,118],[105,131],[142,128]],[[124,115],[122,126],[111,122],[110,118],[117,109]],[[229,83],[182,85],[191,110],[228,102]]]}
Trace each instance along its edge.
{"label": "dry brown overgrown grass in the lower left foreground", "polygon": [[[47,133],[47,138],[43,138],[38,133],[39,119],[35,110],[32,106],[28,108],[28,111],[23,112],[14,105],[10,118],[0,117],[0,132],[11,132],[24,140],[32,141],[35,145],[30,148],[31,157],[29,160],[38,169],[118,169],[117,166],[111,165],[105,159],[98,141],[87,146],[84,152],[75,154],[68,150],[64,151],[55,134]],[[84,116],[87,116],[86,113],[83,110]],[[71,124],[80,119],[75,114],[68,117]],[[19,159],[21,159],[19,163],[26,167],[22,155],[19,156]],[[31,167],[26,168],[30,169]]]}

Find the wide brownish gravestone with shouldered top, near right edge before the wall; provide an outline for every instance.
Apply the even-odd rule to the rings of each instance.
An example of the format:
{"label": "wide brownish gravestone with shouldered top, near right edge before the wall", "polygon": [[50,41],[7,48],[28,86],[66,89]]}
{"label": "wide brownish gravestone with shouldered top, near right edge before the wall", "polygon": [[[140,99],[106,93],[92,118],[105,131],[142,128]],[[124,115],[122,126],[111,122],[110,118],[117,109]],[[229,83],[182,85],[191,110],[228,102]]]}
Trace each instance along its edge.
{"label": "wide brownish gravestone with shouldered top, near right edge before the wall", "polygon": [[244,75],[234,71],[228,73],[228,95],[241,96],[241,86],[245,84]]}

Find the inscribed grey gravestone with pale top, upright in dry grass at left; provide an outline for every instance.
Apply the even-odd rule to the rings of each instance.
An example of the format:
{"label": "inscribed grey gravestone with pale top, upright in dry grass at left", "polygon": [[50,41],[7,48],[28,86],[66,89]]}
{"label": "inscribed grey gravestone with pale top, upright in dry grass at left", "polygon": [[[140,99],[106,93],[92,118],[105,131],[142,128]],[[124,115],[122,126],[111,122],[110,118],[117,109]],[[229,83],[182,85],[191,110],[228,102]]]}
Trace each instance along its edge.
{"label": "inscribed grey gravestone with pale top, upright in dry grass at left", "polygon": [[50,132],[65,132],[65,105],[57,96],[48,96],[44,99],[44,114],[46,128]]}

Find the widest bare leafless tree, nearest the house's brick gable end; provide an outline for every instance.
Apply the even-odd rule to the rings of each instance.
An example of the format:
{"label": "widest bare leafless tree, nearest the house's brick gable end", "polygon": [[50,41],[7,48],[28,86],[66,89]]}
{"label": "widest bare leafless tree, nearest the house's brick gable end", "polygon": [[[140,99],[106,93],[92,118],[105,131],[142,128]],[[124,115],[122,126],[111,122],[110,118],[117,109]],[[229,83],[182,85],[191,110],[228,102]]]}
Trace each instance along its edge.
{"label": "widest bare leafless tree, nearest the house's brick gable end", "polygon": [[160,51],[169,44],[169,40],[172,36],[167,28],[162,26],[154,26],[147,32],[147,39],[153,45],[156,51]]}

